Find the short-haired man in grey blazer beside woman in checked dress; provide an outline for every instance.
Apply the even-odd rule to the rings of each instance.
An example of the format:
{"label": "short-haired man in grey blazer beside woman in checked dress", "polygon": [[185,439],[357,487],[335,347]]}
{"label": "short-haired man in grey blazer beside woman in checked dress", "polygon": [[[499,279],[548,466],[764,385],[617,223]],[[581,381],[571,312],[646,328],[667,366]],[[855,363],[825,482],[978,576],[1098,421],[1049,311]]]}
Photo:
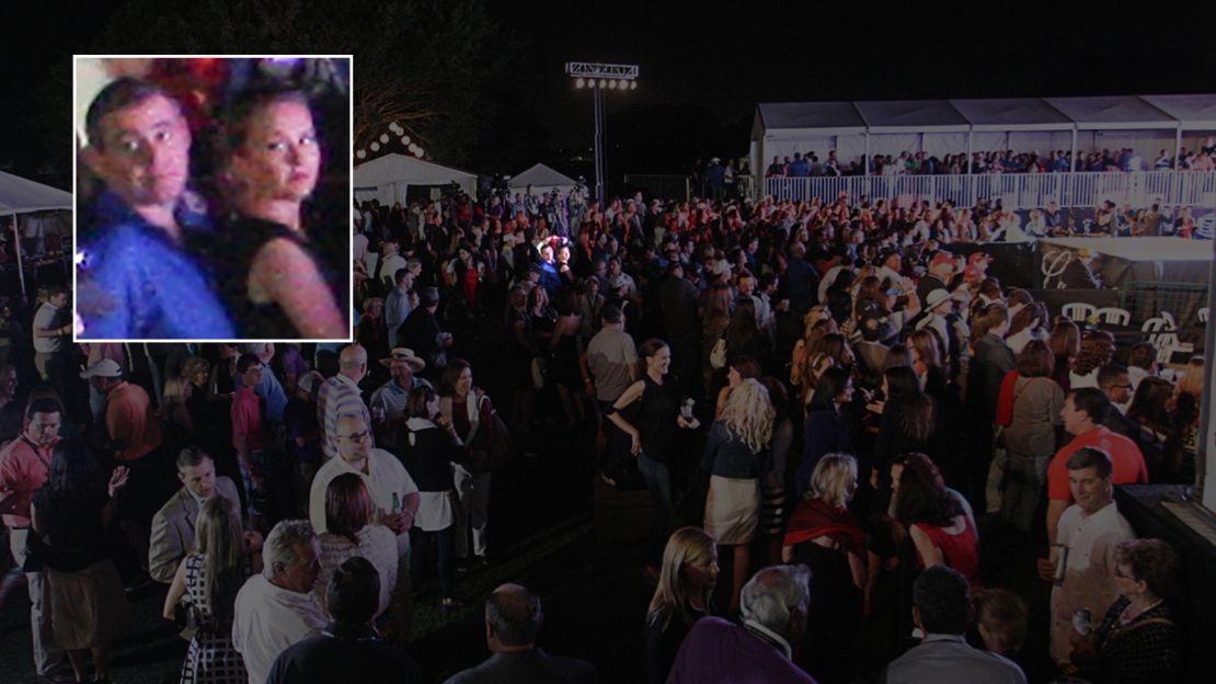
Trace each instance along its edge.
{"label": "short-haired man in grey blazer beside woman in checked dress", "polygon": [[[178,564],[195,548],[195,520],[203,501],[219,494],[241,504],[236,484],[227,477],[215,477],[215,464],[198,447],[186,447],[178,454],[178,480],[182,487],[152,518],[148,544],[148,574],[165,584],[173,582]],[[252,549],[261,545],[257,532],[244,534]]]}

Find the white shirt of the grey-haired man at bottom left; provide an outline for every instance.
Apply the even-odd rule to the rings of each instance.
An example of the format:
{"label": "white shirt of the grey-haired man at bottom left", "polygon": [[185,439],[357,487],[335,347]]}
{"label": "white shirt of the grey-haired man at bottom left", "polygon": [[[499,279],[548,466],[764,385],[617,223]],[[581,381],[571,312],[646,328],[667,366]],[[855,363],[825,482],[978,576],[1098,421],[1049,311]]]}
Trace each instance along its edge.
{"label": "white shirt of the grey-haired man at bottom left", "polygon": [[328,624],[313,594],[288,592],[255,574],[236,595],[232,646],[244,658],[249,684],[263,684],[288,646],[316,637]]}

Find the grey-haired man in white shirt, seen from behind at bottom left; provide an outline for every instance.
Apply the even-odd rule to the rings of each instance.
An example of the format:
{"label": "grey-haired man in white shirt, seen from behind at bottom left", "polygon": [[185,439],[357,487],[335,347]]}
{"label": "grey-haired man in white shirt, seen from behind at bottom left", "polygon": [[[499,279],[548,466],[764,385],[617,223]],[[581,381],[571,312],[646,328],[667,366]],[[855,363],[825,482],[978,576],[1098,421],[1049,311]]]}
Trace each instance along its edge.
{"label": "grey-haired man in white shirt, seen from behind at bottom left", "polygon": [[278,654],[316,637],[328,623],[313,596],[321,576],[320,540],[306,520],[285,520],[266,536],[265,567],[236,595],[232,646],[249,684],[263,684]]}

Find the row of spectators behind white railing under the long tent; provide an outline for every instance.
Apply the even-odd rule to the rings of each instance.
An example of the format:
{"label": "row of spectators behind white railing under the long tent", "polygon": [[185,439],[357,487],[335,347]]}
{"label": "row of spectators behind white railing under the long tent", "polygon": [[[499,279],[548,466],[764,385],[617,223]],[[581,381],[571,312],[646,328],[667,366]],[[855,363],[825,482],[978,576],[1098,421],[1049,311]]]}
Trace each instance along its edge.
{"label": "row of spectators behind white railing under the long tent", "polygon": [[[710,164],[713,168],[713,163]],[[844,175],[958,175],[996,173],[1093,173],[1093,172],[1152,172],[1152,170],[1214,170],[1216,169],[1216,139],[1207,139],[1199,150],[1178,150],[1177,161],[1170,150],[1160,150],[1153,158],[1143,157],[1132,147],[1080,152],[1076,166],[1070,150],[1014,152],[991,150],[933,155],[903,151],[899,155],[873,155],[841,161],[835,150],[826,158],[814,151],[794,152],[793,157],[773,157],[765,168],[765,178],[822,178]],[[732,169],[733,170],[733,167]],[[706,170],[706,174],[709,172]],[[733,179],[732,179],[733,183]]]}

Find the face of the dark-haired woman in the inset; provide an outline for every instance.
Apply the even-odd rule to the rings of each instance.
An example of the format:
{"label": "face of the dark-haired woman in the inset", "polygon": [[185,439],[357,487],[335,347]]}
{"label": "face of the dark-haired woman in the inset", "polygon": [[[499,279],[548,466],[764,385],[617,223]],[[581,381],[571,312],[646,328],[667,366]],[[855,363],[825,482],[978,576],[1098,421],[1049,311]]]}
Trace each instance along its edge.
{"label": "face of the dark-haired woman in the inset", "polygon": [[255,200],[308,198],[321,173],[321,148],[308,106],[280,100],[255,110],[229,173]]}

